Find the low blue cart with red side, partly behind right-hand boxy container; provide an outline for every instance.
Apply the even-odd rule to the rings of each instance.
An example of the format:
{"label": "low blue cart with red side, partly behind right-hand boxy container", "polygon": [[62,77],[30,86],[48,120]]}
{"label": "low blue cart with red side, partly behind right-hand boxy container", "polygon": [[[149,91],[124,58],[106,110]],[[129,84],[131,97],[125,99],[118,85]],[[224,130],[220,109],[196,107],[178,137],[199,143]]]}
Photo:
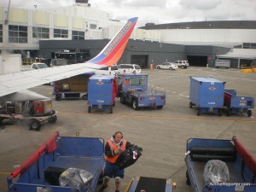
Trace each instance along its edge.
{"label": "low blue cart with red side, partly behind right-hand boxy container", "polygon": [[247,113],[252,116],[250,108],[254,108],[254,98],[250,96],[236,96],[236,90],[224,90],[224,107],[227,116],[232,113]]}

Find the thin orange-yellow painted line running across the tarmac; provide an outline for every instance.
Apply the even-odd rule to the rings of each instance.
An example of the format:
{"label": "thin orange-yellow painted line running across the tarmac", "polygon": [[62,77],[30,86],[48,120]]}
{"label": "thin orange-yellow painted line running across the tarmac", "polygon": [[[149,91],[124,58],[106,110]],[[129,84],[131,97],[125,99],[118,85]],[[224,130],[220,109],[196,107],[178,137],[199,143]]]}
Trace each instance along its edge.
{"label": "thin orange-yellow painted line running across the tarmac", "polygon": [[[59,112],[59,113],[73,113],[73,112]],[[100,114],[102,113],[76,113],[76,114]],[[136,117],[136,118],[155,118],[155,119],[189,119],[189,120],[216,120],[216,121],[236,121],[236,122],[247,122],[247,123],[256,123],[256,120],[250,119],[214,119],[214,118],[206,118],[206,117],[170,117],[170,116],[152,116],[152,115],[141,115],[141,114],[108,114],[110,116],[117,117]]]}

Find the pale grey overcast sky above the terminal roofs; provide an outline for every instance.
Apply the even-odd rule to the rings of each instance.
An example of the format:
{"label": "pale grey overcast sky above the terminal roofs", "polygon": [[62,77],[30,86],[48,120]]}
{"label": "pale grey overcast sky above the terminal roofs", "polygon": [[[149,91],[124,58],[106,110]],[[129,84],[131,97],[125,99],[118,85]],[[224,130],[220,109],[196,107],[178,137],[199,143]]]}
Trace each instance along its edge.
{"label": "pale grey overcast sky above the terminal roofs", "polygon": [[[255,0],[89,0],[92,8],[106,11],[110,19],[139,17],[137,26],[205,21],[256,20]],[[9,0],[0,0],[7,7]],[[45,9],[74,4],[74,0],[11,0],[10,7]]]}

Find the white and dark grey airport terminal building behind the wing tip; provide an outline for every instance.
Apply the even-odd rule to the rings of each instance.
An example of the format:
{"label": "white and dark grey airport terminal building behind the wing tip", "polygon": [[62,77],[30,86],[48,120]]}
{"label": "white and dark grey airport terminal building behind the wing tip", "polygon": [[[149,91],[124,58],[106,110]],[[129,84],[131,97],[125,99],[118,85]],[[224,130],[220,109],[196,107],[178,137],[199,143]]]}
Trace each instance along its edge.
{"label": "white and dark grey airport terminal building behind the wing tip", "polygon": [[[94,57],[124,24],[93,9],[88,0],[44,10],[0,7],[0,51],[23,59],[84,52]],[[217,59],[249,67],[256,59],[256,21],[149,23],[134,29],[119,63],[150,67],[188,60],[190,66],[214,67]]]}

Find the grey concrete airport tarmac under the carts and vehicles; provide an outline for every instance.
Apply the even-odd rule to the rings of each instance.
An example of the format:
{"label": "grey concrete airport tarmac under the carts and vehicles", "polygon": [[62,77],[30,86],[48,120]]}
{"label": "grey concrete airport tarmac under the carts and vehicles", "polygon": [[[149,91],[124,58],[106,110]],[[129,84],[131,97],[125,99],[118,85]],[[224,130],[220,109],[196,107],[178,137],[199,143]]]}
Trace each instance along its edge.
{"label": "grey concrete airport tarmac under the carts and vehicles", "polygon": [[[176,71],[144,69],[149,75],[148,88],[166,91],[166,106],[161,110],[144,108],[138,111],[116,100],[113,113],[87,113],[84,100],[55,102],[52,87],[40,85],[31,90],[53,98],[57,111],[55,125],[45,123],[41,131],[28,131],[26,125],[7,123],[0,126],[0,191],[7,191],[6,178],[55,131],[61,136],[102,137],[105,141],[115,131],[125,139],[143,147],[137,163],[125,169],[121,191],[132,177],[172,178],[177,192],[192,192],[186,184],[184,162],[186,141],[191,137],[231,139],[236,136],[256,158],[256,109],[253,116],[235,114],[219,117],[215,114],[196,116],[189,108],[189,77],[212,77],[226,82],[225,89],[237,90],[238,96],[256,96],[256,73],[241,73],[238,69],[189,67]],[[202,170],[203,174],[203,170]],[[111,180],[105,192],[114,191]]]}

